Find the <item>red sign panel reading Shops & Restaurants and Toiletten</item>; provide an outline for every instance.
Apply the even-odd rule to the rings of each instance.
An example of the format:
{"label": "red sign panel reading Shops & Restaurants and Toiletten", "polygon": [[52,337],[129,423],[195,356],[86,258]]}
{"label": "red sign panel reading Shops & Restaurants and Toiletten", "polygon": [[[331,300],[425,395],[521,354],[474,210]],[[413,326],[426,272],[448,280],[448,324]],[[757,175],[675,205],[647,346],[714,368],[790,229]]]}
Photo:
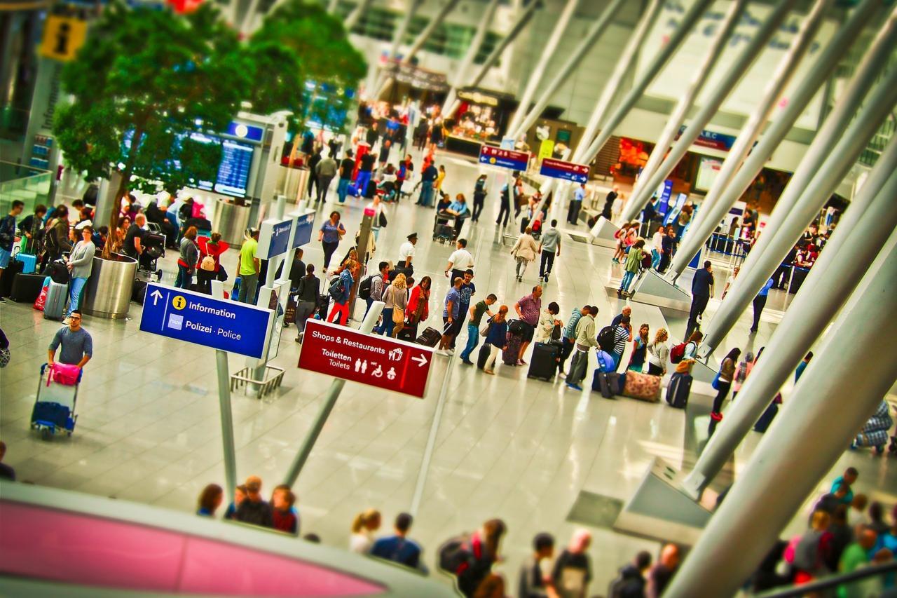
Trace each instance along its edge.
{"label": "red sign panel reading Shops & Restaurants and Toiletten", "polygon": [[432,360],[429,347],[309,320],[299,367],[423,398]]}

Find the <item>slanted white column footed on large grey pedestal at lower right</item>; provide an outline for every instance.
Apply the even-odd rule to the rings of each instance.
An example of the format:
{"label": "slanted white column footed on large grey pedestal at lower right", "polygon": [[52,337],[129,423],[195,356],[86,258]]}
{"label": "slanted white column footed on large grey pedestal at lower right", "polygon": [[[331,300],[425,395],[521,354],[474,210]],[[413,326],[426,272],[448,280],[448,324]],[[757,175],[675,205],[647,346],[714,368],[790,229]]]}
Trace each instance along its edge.
{"label": "slanted white column footed on large grey pedestal at lower right", "polygon": [[[692,496],[717,476],[897,230],[897,137],[841,217],[745,386],[684,481]],[[824,278],[824,283],[823,283]]]}

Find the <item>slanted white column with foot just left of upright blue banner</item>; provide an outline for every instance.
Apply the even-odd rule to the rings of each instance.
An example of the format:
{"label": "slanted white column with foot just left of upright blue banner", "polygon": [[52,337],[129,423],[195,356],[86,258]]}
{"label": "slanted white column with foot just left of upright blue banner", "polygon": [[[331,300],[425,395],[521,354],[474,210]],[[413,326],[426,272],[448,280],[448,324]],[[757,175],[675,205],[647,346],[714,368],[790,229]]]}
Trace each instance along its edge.
{"label": "slanted white column with foot just left of upright blue banner", "polygon": [[[654,193],[654,190],[658,189],[658,185],[660,185],[666,177],[669,176],[670,172],[675,169],[676,164],[682,160],[695,139],[701,135],[704,126],[706,126],[707,123],[710,122],[710,119],[713,118],[713,115],[717,113],[729,93],[735,90],[736,85],[750,69],[753,61],[762,54],[763,48],[766,48],[766,44],[769,43],[772,36],[778,31],[779,25],[785,21],[785,17],[788,16],[788,13],[791,12],[791,9],[795,4],[797,4],[796,0],[780,0],[779,3],[775,5],[775,8],[770,15],[766,17],[766,21],[764,21],[757,31],[754,32],[753,39],[748,42],[745,48],[742,48],[735,60],[732,61],[732,64],[727,66],[725,75],[723,75],[722,79],[714,86],[713,91],[710,93],[710,97],[702,100],[701,110],[698,111],[693,119],[689,119],[688,127],[685,128],[682,135],[676,140],[675,144],[670,149],[669,154],[666,154],[666,157],[663,157],[663,154],[666,153],[666,148],[659,148],[663,161],[660,163],[657,170],[652,172],[649,176],[646,177],[642,175],[640,177],[640,182],[642,182],[642,184],[636,188],[629,198],[629,201],[627,202],[629,205],[626,207],[625,212],[626,215],[629,215],[632,212],[635,212],[635,214],[638,215],[641,208],[648,203],[648,199],[651,197],[651,194]],[[793,55],[790,54],[788,56],[793,57]],[[740,140],[739,137],[739,141]],[[750,148],[750,145],[747,145],[747,147]],[[654,151],[657,152],[658,148],[656,147]],[[628,217],[631,219],[634,216]]]}

